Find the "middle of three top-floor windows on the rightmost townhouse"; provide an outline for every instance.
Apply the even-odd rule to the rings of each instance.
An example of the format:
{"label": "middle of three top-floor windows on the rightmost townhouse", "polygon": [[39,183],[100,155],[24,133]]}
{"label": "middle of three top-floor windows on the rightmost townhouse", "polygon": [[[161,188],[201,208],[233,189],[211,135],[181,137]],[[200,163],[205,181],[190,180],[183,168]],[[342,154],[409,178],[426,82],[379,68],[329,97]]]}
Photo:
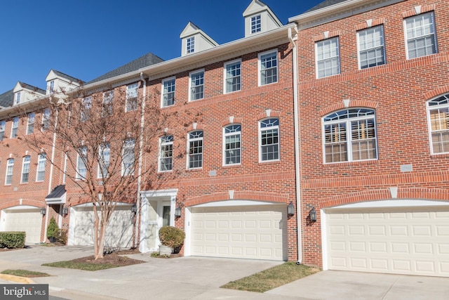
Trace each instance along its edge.
{"label": "middle of three top-floor windows on the rightmost townhouse", "polygon": [[359,69],[386,63],[383,25],[357,32],[357,40]]}

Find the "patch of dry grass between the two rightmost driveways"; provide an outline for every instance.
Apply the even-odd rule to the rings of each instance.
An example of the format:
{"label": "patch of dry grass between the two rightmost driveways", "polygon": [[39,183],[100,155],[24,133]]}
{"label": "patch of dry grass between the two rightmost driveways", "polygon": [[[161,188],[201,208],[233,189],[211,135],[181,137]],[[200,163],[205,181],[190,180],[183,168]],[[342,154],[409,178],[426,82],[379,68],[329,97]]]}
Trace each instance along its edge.
{"label": "patch of dry grass between the two rightmost driveways", "polygon": [[222,285],[222,288],[263,293],[319,271],[319,268],[304,265],[298,266],[294,261],[288,261],[279,266],[229,282],[226,285]]}

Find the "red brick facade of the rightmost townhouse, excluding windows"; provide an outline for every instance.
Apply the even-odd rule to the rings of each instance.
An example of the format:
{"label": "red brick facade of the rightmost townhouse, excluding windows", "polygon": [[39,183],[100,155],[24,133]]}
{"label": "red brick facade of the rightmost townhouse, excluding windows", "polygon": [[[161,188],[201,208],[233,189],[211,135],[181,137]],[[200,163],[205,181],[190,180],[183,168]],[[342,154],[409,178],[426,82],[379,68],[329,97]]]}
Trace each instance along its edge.
{"label": "red brick facade of the rightmost townhouse, excluding windows", "polygon": [[[406,59],[403,18],[414,6],[434,9],[438,54]],[[297,41],[304,263],[321,266],[321,222],[307,223],[317,210],[351,202],[391,199],[449,200],[449,155],[431,155],[426,101],[448,93],[447,1],[403,1],[303,30]],[[387,64],[358,70],[356,32],[366,20],[383,23]],[[340,38],[341,74],[316,79],[314,41],[323,32]],[[349,107],[375,110],[378,159],[323,164],[321,118]],[[401,172],[412,164],[413,171]]]}

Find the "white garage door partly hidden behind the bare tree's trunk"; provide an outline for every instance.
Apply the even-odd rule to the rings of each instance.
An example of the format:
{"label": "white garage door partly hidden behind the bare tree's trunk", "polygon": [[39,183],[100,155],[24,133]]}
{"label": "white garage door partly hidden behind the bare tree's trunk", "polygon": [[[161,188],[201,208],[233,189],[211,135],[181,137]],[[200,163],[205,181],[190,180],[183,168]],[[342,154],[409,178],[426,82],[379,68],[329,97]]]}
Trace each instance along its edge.
{"label": "white garage door partly hidden behind the bare tree's trunk", "polygon": [[[76,207],[74,209],[74,245],[93,245],[95,218],[92,207]],[[106,247],[128,248],[132,246],[133,216],[129,205],[116,207],[107,225]]]}

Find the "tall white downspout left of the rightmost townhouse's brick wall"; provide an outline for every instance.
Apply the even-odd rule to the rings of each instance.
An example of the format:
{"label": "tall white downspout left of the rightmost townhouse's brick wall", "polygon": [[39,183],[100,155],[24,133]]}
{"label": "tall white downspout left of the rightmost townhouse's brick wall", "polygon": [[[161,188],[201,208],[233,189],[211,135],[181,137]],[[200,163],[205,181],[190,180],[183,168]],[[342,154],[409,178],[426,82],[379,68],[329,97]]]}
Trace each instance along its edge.
{"label": "tall white downspout left of the rightmost townhouse's brick wall", "polygon": [[292,28],[288,28],[288,39],[292,42],[293,46],[293,119],[295,121],[295,185],[296,185],[296,222],[297,222],[297,262],[299,265],[302,263],[302,214],[301,214],[301,178],[300,178],[300,110],[298,107],[298,94],[297,94],[297,27],[295,25],[294,30],[296,37],[293,37]]}

